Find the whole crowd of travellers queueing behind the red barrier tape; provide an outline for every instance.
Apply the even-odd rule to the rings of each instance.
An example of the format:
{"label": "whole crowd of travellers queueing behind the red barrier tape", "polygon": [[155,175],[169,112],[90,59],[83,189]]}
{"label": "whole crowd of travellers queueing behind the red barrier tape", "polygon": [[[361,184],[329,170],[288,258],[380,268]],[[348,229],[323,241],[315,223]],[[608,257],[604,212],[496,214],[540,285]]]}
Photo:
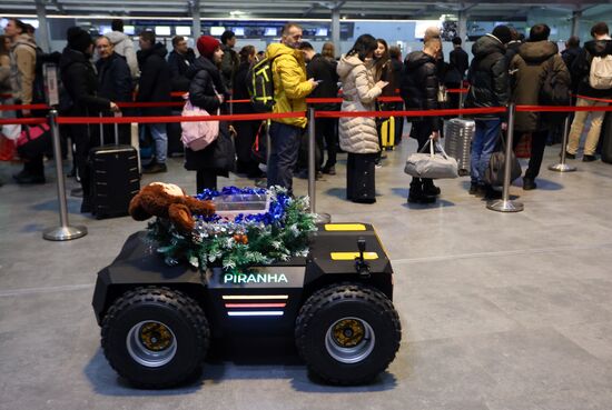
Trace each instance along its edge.
{"label": "whole crowd of travellers queueing behind the red barrier tape", "polygon": [[[2,103],[29,104],[36,100],[37,58],[43,54],[29,29],[18,19],[9,19],[0,37],[0,93]],[[272,63],[275,113],[306,111],[306,98],[335,98],[342,103],[319,102],[317,110],[343,112],[381,110],[437,110],[461,107],[462,97],[446,97],[445,88],[461,88],[465,82],[466,108],[506,107],[509,102],[535,106],[549,72],[556,83],[572,89],[578,107],[608,106],[612,97],[612,39],[608,26],[596,23],[591,30],[593,40],[580,48],[572,37],[565,50],[549,40],[550,28],[534,24],[525,39],[514,28],[497,26],[472,47],[473,58],[462,48],[458,37],[452,39],[453,50],[444,61],[438,28],[426,30],[422,50],[405,58],[397,47],[388,47],[384,39],[359,36],[354,46],[338,57],[334,44],[326,43],[320,53],[303,40],[299,24],[287,23],[279,42],[266,50],[245,46],[236,51],[236,36],[226,31],[220,41],[210,36],[196,40],[190,49],[180,36],[172,39],[172,51],[157,41],[151,31],[139,34],[139,50],[122,32],[121,20],[113,20],[112,32],[93,39],[81,28],[67,32],[67,46],[59,56],[61,78],[60,114],[75,117],[111,116],[119,112],[117,103],[168,102],[172,91],[188,92],[193,106],[209,113],[251,113],[250,104],[230,104],[231,99],[249,98],[249,69],[267,58]],[[95,54],[97,50],[97,54]],[[610,58],[610,61],[608,60]],[[96,62],[93,63],[93,59]],[[596,70],[593,66],[596,64]],[[609,70],[609,71],[606,71]],[[593,71],[598,71],[593,80]],[[596,81],[594,83],[593,81]],[[608,86],[606,86],[608,84]],[[136,96],[136,97],[134,97]],[[401,97],[393,102],[381,102],[379,97]],[[136,113],[124,110],[126,113]],[[171,114],[169,107],[140,109],[141,116]],[[29,110],[3,112],[3,116],[31,116]],[[581,111],[573,116],[566,157],[575,159],[582,131],[589,127],[583,161],[596,159],[595,149],[601,133],[603,112]],[[589,120],[590,118],[590,120]],[[353,202],[376,201],[375,174],[383,166],[386,150],[402,141],[404,119],[395,119],[394,136],[385,128],[385,118],[347,117],[339,120],[318,118],[316,129],[316,174],[336,174],[338,152],[347,153],[346,198]],[[442,136],[443,118],[411,117],[409,137],[416,139],[418,150]],[[496,198],[495,187],[487,184],[484,173],[491,154],[507,129],[503,113],[476,114],[475,134],[471,150],[470,193]],[[523,176],[523,189],[536,188],[544,148],[559,120],[537,112],[517,112],[514,123],[514,143],[531,134],[531,158]],[[129,143],[130,127],[119,127],[121,142]],[[253,144],[265,129],[261,121],[221,122],[219,132],[231,134],[236,172],[248,178],[267,178],[267,186],[282,186],[293,192],[294,173],[304,167],[299,160],[305,144],[307,118],[278,118],[269,122],[270,147],[266,173],[253,156]],[[141,140],[152,140],[152,158],[144,164],[144,173],[166,172],[168,156],[168,127],[166,123],[140,126]],[[8,128],[7,128],[8,130]],[[4,131],[3,132],[8,132]],[[100,144],[100,128],[75,124],[62,129],[69,134],[75,149],[77,174],[83,191],[82,212],[88,212],[89,169],[87,154]],[[106,133],[106,132],[105,132]],[[392,141],[392,142],[389,142]],[[219,169],[214,147],[200,151],[185,149],[185,168],[196,171],[197,190],[217,189],[217,177],[227,176]],[[14,176],[18,183],[43,183],[42,153],[23,159],[23,170]],[[409,183],[408,202],[431,203],[441,194],[432,179],[414,177]]]}

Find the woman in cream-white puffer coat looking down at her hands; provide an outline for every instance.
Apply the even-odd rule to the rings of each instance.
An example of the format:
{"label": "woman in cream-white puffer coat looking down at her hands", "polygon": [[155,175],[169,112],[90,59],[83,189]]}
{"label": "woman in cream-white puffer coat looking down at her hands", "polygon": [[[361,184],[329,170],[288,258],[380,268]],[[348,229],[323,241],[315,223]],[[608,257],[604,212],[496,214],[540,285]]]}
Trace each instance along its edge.
{"label": "woman in cream-white puffer coat looking down at her hands", "polygon": [[[337,72],[343,84],[342,111],[376,111],[376,98],[387,84],[374,82],[369,61],[378,47],[369,34],[359,36],[355,46],[340,58]],[[368,61],[366,63],[366,61]],[[340,148],[348,152],[346,166],[346,198],[353,202],[376,202],[374,169],[378,146],[378,133],[374,117],[339,119]]]}

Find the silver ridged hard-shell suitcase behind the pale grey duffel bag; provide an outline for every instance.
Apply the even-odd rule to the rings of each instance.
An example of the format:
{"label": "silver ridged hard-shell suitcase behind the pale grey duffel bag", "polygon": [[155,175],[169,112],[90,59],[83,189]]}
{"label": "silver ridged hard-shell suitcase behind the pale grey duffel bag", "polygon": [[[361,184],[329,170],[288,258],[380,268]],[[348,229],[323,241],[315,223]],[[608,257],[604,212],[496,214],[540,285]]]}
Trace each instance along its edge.
{"label": "silver ridged hard-shell suitcase behind the pale grey duffel bag", "polygon": [[470,154],[475,129],[474,120],[453,118],[444,121],[444,150],[457,160],[460,177],[470,174]]}

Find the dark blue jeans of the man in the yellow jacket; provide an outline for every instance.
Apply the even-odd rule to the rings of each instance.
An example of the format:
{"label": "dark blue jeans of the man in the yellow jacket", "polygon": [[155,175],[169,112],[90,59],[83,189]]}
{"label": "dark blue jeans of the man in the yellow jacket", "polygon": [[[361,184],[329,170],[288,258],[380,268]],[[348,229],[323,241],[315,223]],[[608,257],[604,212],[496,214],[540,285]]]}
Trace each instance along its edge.
{"label": "dark blue jeans of the man in the yellow jacket", "polygon": [[293,193],[294,168],[303,132],[304,130],[299,127],[272,121],[272,149],[267,169],[268,188],[280,186]]}

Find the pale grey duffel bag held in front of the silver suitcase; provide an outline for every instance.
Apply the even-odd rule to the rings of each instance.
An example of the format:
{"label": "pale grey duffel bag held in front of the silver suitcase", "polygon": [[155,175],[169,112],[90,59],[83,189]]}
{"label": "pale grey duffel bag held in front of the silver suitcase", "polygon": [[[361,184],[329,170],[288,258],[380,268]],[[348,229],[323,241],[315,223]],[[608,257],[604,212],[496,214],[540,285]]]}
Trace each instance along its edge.
{"label": "pale grey duffel bag held in front of the silver suitcase", "polygon": [[[427,147],[427,143],[430,144],[430,153],[424,153],[423,151]],[[408,156],[404,172],[417,178],[457,178],[457,160],[448,157],[440,142],[435,141],[435,148],[440,151],[438,153],[434,152],[433,140],[430,139],[427,143],[417,153]]]}

